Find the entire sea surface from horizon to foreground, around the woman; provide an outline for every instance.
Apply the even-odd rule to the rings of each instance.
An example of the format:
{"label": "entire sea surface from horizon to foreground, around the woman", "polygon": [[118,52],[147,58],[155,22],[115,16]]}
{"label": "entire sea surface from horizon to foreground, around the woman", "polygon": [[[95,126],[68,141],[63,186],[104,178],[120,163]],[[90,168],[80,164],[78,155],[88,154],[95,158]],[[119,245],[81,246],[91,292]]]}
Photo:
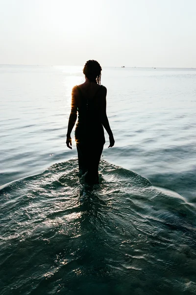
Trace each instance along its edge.
{"label": "entire sea surface from horizon to foreground, around the woman", "polygon": [[102,68],[115,146],[93,187],[66,147],[83,81],[0,65],[0,294],[196,294],[196,69]]}

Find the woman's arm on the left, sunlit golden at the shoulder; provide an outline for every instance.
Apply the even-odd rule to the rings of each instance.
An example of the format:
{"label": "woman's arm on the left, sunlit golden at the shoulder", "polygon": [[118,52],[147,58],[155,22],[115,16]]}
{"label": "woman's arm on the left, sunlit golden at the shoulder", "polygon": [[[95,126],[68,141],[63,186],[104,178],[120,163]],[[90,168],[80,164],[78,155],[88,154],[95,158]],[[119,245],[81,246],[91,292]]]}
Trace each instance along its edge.
{"label": "woman's arm on the left, sunlit golden at the shoulder", "polygon": [[76,86],[74,86],[72,89],[72,106],[71,106],[71,113],[70,113],[70,118],[68,123],[67,140],[66,140],[67,147],[71,149],[72,149],[71,132],[72,132],[73,126],[75,125],[75,121],[77,119],[77,104],[76,104],[75,92],[76,92]]}

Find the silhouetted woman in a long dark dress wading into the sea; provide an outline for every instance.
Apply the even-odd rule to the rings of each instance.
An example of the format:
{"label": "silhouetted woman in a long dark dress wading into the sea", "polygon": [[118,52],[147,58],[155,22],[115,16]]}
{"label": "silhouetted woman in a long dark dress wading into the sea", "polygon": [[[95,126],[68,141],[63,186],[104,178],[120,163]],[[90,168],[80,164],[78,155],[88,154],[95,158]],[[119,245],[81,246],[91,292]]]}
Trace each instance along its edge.
{"label": "silhouetted woman in a long dark dress wading into the sea", "polygon": [[67,147],[72,148],[71,132],[78,112],[75,142],[78,153],[79,171],[85,181],[98,183],[98,165],[105,144],[103,127],[109,135],[110,145],[114,137],[106,115],[107,89],[100,85],[101,66],[96,60],[88,60],[83,68],[85,82],[72,89],[72,107],[68,123]]}

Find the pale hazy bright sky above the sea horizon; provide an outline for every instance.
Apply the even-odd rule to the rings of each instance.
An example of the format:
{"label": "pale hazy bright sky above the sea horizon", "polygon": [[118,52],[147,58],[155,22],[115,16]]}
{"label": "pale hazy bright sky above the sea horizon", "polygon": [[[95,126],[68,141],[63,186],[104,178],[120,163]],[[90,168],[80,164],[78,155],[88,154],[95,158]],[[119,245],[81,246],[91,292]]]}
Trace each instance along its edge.
{"label": "pale hazy bright sky above the sea horizon", "polygon": [[196,0],[0,0],[0,64],[196,67]]}

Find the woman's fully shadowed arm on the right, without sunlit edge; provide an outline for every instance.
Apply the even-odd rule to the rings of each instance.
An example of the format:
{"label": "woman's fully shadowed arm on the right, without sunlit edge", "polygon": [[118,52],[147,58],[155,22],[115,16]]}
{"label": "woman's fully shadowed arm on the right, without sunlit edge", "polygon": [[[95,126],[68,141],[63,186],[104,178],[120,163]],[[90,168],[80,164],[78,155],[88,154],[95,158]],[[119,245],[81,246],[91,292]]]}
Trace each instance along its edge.
{"label": "woman's fully shadowed arm on the right, without sunlit edge", "polygon": [[106,95],[107,95],[107,89],[103,86],[102,87],[102,95],[101,95],[101,124],[103,125],[103,127],[105,128],[105,130],[107,131],[108,135],[109,135],[109,141],[110,141],[110,145],[108,148],[112,148],[114,146],[114,136],[112,133],[112,130],[110,128],[110,124],[107,118],[107,114],[106,114]]}

